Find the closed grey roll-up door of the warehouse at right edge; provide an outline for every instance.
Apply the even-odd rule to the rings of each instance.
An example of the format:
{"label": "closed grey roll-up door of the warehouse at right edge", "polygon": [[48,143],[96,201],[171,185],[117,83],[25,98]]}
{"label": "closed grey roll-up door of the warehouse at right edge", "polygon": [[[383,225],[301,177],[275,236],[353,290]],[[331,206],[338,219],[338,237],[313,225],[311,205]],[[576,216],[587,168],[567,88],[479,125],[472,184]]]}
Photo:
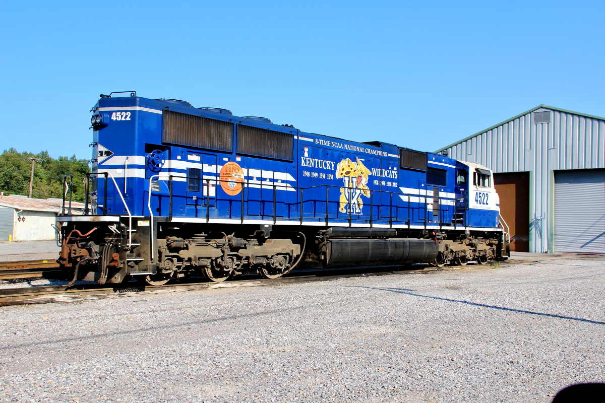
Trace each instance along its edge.
{"label": "closed grey roll-up door of the warehouse at right edge", "polygon": [[555,172],[555,252],[605,254],[605,169]]}

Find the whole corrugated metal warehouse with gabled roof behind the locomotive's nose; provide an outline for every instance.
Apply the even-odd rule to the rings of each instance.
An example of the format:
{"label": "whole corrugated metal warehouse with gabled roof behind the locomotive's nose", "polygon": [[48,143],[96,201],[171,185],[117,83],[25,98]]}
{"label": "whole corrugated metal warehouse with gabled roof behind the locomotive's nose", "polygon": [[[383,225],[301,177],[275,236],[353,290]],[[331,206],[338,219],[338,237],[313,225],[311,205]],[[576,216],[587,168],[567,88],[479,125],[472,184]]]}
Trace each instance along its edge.
{"label": "whole corrugated metal warehouse with gabled roof behind the locomotive's nose", "polygon": [[512,250],[605,254],[605,118],[540,105],[437,152],[494,172]]}

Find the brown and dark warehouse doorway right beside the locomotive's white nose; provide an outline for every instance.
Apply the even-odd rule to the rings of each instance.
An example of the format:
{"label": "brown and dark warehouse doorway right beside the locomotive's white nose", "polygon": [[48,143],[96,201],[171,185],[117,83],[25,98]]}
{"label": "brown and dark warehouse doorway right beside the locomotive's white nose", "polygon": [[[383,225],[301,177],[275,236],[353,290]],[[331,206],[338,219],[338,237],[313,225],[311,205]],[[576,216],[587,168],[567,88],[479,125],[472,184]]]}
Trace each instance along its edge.
{"label": "brown and dark warehouse doorway right beside the locomotive's white nose", "polygon": [[500,215],[511,230],[511,251],[529,251],[529,172],[494,173]]}

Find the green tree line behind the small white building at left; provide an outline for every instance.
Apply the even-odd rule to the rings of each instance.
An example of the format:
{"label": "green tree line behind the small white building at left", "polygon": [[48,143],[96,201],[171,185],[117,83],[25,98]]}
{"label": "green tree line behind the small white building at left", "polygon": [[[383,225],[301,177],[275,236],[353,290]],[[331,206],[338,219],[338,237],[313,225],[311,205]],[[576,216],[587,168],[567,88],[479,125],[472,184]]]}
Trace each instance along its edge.
{"label": "green tree line behind the small white building at left", "polygon": [[31,197],[36,199],[62,198],[64,175],[73,174],[72,199],[84,201],[83,179],[90,172],[88,160],[78,160],[76,155],[54,159],[47,151],[37,154],[18,152],[11,147],[0,154],[0,191],[5,195],[24,195],[30,191],[31,162],[22,158],[42,158],[34,166]]}

